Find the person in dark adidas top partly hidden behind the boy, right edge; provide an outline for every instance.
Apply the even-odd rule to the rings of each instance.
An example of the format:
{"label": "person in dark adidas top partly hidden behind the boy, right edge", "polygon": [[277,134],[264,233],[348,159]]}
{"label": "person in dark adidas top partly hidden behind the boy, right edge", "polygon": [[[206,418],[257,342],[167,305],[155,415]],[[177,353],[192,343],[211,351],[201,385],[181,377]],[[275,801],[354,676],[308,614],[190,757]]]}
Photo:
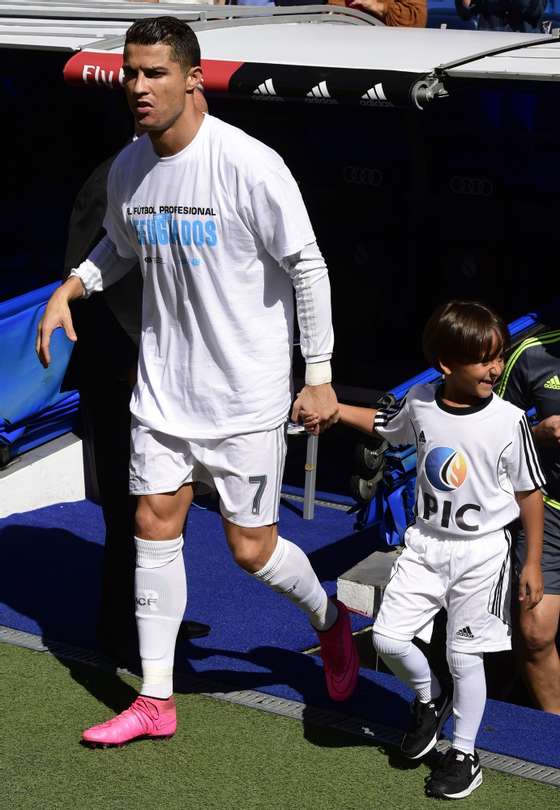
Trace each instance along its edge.
{"label": "person in dark adidas top partly hidden behind the boy, right edge", "polygon": [[[518,408],[536,409],[533,438],[544,470],[544,596],[533,609],[521,603],[519,662],[536,706],[560,714],[560,331],[523,341],[511,354],[498,384],[499,396]],[[514,544],[516,570],[527,556],[523,527]]]}

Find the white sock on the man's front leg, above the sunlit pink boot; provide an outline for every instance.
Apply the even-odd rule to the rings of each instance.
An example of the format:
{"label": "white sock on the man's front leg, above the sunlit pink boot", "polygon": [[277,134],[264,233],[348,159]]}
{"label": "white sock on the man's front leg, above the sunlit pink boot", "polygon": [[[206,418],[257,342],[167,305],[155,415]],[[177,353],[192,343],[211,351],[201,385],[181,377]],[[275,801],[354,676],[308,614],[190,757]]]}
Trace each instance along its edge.
{"label": "white sock on the man's front leg, above the sunlit pink boot", "polygon": [[173,692],[175,642],[187,606],[187,578],[181,554],[183,537],[134,540],[141,693],[165,699]]}

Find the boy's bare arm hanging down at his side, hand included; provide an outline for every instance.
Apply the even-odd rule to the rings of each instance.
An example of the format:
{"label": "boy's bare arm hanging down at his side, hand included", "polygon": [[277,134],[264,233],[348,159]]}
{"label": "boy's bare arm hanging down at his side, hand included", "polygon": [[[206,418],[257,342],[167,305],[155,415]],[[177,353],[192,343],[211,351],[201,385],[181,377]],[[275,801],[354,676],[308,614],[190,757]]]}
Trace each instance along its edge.
{"label": "boy's bare arm hanging down at his side, hand included", "polygon": [[538,605],[543,597],[541,555],[544,531],[544,506],[540,489],[517,492],[521,523],[527,543],[527,559],[519,576],[519,601],[525,610]]}

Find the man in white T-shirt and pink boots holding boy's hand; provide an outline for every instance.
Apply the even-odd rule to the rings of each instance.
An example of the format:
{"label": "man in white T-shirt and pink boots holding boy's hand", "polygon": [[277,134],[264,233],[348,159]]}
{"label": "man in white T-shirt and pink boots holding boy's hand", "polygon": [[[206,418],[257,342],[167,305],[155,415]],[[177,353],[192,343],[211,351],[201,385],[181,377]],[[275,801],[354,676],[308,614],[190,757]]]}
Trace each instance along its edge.
{"label": "man in white T-shirt and pink boots holding boy's hand", "polygon": [[306,612],[321,642],[327,688],[353,692],[358,657],[345,607],[328,599],[303,552],[278,535],[291,403],[293,291],[307,363],[292,418],[337,418],[327,269],[297,184],[282,159],[193,103],[200,50],[173,17],[127,32],[124,85],[146,133],[115,160],[107,236],[54,293],[37,350],[53,329],[75,339],[69,302],[144,277],[138,381],[131,400],[136,511],[136,616],[143,684],[132,706],[84,732],[119,745],[176,728],[172,669],[186,606],[181,549],[193,484],[220,496],[228,544],[249,574]]}

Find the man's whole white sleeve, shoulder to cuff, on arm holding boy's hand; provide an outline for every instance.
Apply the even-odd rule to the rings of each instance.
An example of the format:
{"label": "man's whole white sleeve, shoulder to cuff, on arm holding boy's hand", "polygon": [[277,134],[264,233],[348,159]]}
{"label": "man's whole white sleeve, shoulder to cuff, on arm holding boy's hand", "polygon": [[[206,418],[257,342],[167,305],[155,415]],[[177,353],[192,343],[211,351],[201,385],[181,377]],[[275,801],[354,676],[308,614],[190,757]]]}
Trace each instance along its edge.
{"label": "man's whole white sleeve, shoulder to cuff, on arm holding boy's hand", "polygon": [[257,183],[251,203],[257,234],[294,285],[305,382],[330,382],[334,335],[328,271],[298,185],[284,164]]}

